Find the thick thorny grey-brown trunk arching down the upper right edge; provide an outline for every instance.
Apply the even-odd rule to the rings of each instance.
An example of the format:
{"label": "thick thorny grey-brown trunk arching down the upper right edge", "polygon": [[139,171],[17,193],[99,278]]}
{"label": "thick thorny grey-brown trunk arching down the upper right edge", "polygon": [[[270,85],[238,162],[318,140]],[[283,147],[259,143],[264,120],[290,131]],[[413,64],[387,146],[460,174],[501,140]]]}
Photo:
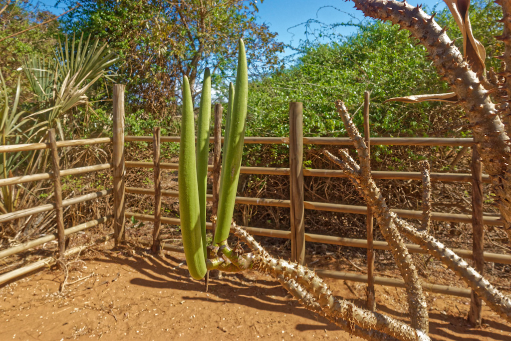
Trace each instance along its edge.
{"label": "thick thorny grey-brown trunk arching down the upper right edge", "polygon": [[[490,90],[486,90],[481,84],[478,75],[471,70],[470,65],[454,46],[454,42],[445,33],[446,30],[440,28],[433,17],[426,14],[419,6],[413,7],[406,2],[387,0],[352,1],[355,3],[355,7],[365,15],[398,24],[401,28],[408,30],[411,37],[419,39],[426,47],[438,73],[449,83],[459,98],[459,104],[467,112],[479,154],[492,179],[492,188],[497,196],[496,205],[502,214],[504,229],[511,239],[509,139],[504,124],[498,116],[498,111],[490,98]],[[506,24],[504,33],[507,32],[506,39],[509,40],[511,39],[509,35],[511,24],[509,24],[508,8],[511,5],[504,0],[502,3],[507,20],[507,22],[504,20]],[[507,46],[505,55],[507,57],[511,55]]]}

